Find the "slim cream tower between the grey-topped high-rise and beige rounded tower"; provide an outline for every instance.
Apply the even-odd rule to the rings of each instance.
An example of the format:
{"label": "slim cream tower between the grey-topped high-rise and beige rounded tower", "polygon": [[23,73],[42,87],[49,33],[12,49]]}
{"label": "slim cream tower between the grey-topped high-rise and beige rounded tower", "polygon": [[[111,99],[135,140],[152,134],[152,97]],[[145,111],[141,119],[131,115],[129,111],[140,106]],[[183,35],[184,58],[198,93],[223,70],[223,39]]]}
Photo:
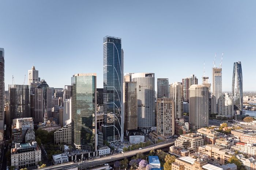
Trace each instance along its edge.
{"label": "slim cream tower between the grey-topped high-rise and beige rounded tower", "polygon": [[174,82],[170,85],[170,98],[174,100],[175,119],[183,117],[183,85]]}

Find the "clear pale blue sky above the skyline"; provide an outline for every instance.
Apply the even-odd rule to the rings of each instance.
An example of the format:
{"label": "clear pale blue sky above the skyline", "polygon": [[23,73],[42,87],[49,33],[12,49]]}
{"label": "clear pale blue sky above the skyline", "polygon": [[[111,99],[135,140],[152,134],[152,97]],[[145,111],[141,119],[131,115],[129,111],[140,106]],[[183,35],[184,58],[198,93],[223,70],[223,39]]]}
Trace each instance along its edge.
{"label": "clear pale blue sky above the skyline", "polygon": [[97,73],[103,87],[103,37],[122,38],[124,72],[154,72],[180,82],[203,62],[211,80],[224,52],[223,91],[231,90],[233,63],[242,62],[244,90],[256,90],[256,1],[0,1],[0,47],[5,88],[23,84],[34,66],[50,87],[71,84],[76,73]]}

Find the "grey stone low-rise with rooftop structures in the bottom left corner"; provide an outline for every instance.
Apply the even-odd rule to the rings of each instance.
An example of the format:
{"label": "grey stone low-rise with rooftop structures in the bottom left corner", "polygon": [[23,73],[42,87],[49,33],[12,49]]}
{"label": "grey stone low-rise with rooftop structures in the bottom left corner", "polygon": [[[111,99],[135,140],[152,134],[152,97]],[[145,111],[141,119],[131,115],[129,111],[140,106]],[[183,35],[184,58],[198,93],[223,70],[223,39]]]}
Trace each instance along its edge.
{"label": "grey stone low-rise with rooftop structures in the bottom left corner", "polygon": [[20,169],[28,166],[35,166],[41,161],[41,150],[37,142],[15,143],[11,149],[11,166]]}

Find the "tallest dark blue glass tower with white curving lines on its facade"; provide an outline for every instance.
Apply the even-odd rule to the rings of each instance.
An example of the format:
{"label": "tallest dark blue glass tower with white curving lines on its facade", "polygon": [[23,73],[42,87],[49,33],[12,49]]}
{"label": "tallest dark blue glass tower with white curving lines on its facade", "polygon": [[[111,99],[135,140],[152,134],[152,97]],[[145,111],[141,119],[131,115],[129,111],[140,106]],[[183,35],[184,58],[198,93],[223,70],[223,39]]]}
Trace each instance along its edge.
{"label": "tallest dark blue glass tower with white curving lines on its facade", "polygon": [[123,49],[121,39],[103,38],[103,106],[102,132],[108,142],[123,141]]}

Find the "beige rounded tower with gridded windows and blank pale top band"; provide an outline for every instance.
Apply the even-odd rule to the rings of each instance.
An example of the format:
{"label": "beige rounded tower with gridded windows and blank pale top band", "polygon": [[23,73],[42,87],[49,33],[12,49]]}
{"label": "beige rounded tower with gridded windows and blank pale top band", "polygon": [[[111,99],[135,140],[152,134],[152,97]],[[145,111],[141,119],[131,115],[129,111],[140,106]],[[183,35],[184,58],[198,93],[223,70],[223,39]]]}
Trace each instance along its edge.
{"label": "beige rounded tower with gridded windows and blank pale top band", "polygon": [[194,84],[189,88],[189,124],[191,129],[209,126],[209,90]]}

